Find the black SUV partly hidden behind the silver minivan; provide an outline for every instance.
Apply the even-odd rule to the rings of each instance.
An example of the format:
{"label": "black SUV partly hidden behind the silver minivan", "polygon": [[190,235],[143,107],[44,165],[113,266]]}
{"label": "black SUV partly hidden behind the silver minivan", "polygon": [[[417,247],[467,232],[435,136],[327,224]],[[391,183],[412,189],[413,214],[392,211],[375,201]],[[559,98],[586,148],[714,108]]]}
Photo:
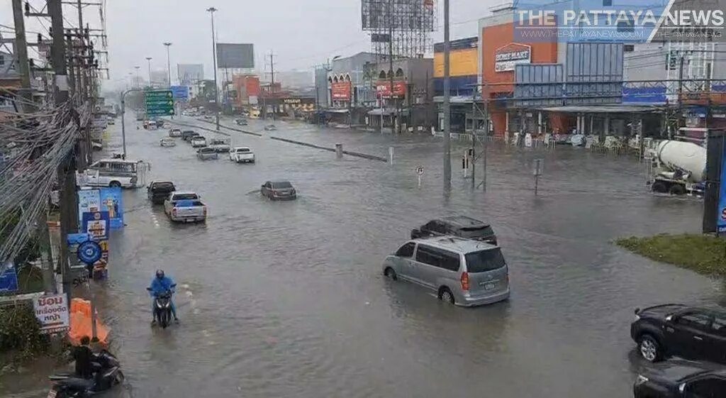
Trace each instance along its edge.
{"label": "black SUV partly hidden behind the silver minivan", "polygon": [[411,231],[411,239],[439,235],[454,235],[497,245],[497,235],[489,224],[467,216],[442,217]]}

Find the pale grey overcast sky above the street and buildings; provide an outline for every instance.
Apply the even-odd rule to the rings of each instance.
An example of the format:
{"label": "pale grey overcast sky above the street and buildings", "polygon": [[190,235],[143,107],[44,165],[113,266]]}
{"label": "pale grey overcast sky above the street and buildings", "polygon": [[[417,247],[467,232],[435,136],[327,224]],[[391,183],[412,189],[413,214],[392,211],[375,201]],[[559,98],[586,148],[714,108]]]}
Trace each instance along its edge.
{"label": "pale grey overcast sky above the street and buildings", "polygon": [[[452,39],[476,36],[477,19],[503,0],[452,0]],[[37,9],[44,0],[30,0]],[[264,68],[265,54],[275,54],[277,70],[309,69],[335,55],[346,56],[370,50],[370,37],[361,30],[359,0],[107,0],[107,33],[112,85],[123,84],[134,66],[166,70],[164,41],[171,41],[172,78],[177,63],[203,63],[212,73],[211,22],[205,11],[216,7],[215,28],[219,42],[253,43],[256,64]],[[441,41],[443,0],[436,0]],[[64,6],[64,15],[74,25],[77,10]],[[84,17],[98,23],[97,7],[86,7]],[[0,24],[12,26],[10,0],[0,0]],[[38,18],[26,18],[28,31],[41,31]],[[45,23],[49,26],[49,23]],[[7,28],[0,27],[7,37]],[[269,67],[268,67],[269,68]]]}

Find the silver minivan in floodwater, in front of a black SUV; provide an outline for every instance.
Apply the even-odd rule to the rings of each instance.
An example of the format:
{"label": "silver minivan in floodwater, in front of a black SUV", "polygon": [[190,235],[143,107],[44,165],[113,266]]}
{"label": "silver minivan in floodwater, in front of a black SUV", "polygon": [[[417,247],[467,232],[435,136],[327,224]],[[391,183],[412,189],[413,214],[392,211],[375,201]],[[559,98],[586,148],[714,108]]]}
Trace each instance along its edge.
{"label": "silver minivan in floodwater, in front of a black SUV", "polygon": [[509,269],[502,249],[460,237],[409,240],[383,261],[383,275],[417,283],[461,306],[509,298]]}

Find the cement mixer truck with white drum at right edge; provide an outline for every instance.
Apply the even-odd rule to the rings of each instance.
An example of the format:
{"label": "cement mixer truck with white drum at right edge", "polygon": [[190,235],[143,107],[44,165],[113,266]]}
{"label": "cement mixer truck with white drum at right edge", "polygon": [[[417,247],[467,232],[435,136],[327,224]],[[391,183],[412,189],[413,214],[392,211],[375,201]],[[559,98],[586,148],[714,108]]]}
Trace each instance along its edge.
{"label": "cement mixer truck with white drum at right edge", "polygon": [[706,148],[693,142],[663,140],[648,150],[653,192],[703,196]]}

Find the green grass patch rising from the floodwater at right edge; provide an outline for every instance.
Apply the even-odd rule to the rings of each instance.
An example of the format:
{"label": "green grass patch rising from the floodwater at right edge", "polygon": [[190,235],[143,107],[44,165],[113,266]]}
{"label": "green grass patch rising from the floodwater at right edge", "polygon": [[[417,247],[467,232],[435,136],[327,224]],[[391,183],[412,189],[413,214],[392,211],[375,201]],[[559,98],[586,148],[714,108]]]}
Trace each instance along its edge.
{"label": "green grass patch rising from the floodwater at right edge", "polygon": [[726,277],[726,240],[709,235],[624,237],[616,245],[648,259],[674,264],[703,275]]}

